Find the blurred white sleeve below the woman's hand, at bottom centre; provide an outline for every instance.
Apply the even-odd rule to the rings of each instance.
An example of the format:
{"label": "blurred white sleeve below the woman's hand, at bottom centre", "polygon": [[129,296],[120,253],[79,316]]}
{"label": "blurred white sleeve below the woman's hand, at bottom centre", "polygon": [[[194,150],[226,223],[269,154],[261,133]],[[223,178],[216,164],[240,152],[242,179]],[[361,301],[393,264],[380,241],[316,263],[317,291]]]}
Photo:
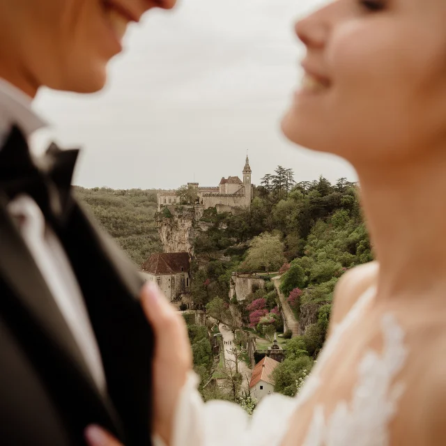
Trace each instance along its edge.
{"label": "blurred white sleeve below the woman's hand, at bottom centre", "polygon": [[[249,417],[236,403],[203,403],[198,378],[190,373],[178,401],[170,446],[279,446],[295,410],[295,399],[280,394],[263,398]],[[164,446],[159,438],[155,446]]]}

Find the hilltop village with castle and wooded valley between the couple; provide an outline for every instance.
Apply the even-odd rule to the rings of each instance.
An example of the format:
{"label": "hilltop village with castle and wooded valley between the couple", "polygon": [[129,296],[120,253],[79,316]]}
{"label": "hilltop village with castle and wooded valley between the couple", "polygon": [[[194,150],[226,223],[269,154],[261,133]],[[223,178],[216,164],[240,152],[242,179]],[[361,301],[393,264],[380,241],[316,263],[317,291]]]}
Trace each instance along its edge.
{"label": "hilltop village with castle and wooded valley between the couple", "polygon": [[248,159],[240,169],[212,187],[77,192],[185,318],[203,399],[252,413],[299,392],[337,280],[373,257],[354,183],[278,166],[254,185]]}

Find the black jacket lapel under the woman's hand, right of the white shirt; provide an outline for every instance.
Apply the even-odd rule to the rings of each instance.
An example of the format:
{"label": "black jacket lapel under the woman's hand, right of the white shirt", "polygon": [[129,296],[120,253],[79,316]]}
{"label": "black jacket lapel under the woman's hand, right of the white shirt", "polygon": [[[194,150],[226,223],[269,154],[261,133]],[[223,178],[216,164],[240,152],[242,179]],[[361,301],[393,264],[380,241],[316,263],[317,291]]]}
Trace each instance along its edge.
{"label": "black jacket lapel under the woman's hand, right of the white shirt", "polygon": [[151,444],[153,332],[132,262],[75,200],[59,238],[84,295],[128,446]]}

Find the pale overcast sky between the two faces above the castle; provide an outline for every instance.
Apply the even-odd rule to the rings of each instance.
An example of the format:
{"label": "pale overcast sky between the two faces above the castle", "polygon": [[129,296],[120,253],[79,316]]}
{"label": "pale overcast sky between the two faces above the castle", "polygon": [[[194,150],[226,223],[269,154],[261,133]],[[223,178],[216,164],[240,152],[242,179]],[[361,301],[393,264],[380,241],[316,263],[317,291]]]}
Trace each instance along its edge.
{"label": "pale overcast sky between the two faces above the castle", "polygon": [[354,180],[330,155],[293,146],[279,119],[301,75],[293,21],[323,0],[178,0],[132,26],[105,91],[42,91],[35,108],[52,124],[36,136],[82,147],[75,184],[174,188],[241,176],[253,183],[278,164],[295,179]]}

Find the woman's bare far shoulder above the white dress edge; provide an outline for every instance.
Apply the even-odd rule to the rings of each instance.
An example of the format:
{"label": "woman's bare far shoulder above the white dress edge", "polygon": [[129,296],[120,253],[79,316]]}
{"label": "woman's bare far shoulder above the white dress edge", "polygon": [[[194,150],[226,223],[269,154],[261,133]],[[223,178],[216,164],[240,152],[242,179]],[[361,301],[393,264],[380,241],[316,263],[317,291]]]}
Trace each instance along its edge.
{"label": "woman's bare far shoulder above the white dress edge", "polygon": [[376,283],[377,261],[364,263],[348,270],[334,288],[331,323],[333,327],[344,319],[358,298]]}

